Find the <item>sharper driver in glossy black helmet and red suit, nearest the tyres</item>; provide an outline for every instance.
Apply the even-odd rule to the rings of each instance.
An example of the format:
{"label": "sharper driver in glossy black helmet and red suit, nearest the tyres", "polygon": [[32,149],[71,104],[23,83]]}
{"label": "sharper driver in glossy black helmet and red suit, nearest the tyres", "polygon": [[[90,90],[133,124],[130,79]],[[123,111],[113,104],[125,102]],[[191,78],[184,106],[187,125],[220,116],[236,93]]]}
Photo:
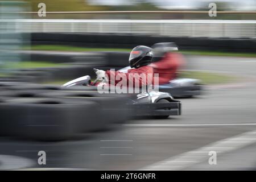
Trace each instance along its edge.
{"label": "sharper driver in glossy black helmet and red suit, nearest the tyres", "polygon": [[[118,71],[96,71],[97,80],[104,79],[109,84],[118,84],[120,81],[119,78],[125,78],[127,87],[131,84],[134,86],[139,85],[139,88],[142,86],[151,85],[153,81],[153,68],[148,66],[151,64],[152,60],[152,48],[147,46],[137,46],[134,47],[130,52],[129,64],[131,69],[127,73],[122,73]],[[146,75],[146,78],[143,78],[138,75]],[[118,78],[117,78],[118,77]],[[128,85],[129,84],[129,85]]]}

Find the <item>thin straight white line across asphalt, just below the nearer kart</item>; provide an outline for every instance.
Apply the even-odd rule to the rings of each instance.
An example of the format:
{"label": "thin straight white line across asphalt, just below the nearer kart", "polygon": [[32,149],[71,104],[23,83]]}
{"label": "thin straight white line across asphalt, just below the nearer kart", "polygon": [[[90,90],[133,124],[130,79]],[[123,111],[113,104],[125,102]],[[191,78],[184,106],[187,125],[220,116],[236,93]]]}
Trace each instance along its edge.
{"label": "thin straight white line across asphalt, just below the nearer kart", "polygon": [[204,126],[256,126],[256,123],[219,123],[219,124],[125,124],[123,126],[138,126],[138,127],[204,127]]}

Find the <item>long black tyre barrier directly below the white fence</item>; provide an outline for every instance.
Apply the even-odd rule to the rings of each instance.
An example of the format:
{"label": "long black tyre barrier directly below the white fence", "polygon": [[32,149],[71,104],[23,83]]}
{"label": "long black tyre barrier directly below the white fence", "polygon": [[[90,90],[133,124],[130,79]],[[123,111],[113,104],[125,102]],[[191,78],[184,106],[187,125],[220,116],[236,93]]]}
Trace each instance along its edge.
{"label": "long black tyre barrier directly below the white fence", "polygon": [[[200,49],[233,52],[255,52],[254,38],[170,37],[136,34],[64,34],[32,33],[32,44],[59,44],[86,47],[133,48],[138,45],[152,46],[158,42],[176,42],[180,49]],[[225,47],[222,45],[226,45]],[[245,46],[241,46],[245,45]]]}

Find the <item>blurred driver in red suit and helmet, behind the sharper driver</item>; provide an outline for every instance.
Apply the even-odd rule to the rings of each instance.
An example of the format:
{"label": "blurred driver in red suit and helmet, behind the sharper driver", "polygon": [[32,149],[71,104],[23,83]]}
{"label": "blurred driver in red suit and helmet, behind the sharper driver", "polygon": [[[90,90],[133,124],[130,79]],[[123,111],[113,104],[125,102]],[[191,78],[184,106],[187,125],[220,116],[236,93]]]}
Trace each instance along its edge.
{"label": "blurred driver in red suit and helmet, behind the sharper driver", "polygon": [[167,84],[177,77],[177,71],[184,64],[183,56],[177,53],[175,43],[156,43],[152,48],[154,58],[150,66],[159,74],[159,85]]}

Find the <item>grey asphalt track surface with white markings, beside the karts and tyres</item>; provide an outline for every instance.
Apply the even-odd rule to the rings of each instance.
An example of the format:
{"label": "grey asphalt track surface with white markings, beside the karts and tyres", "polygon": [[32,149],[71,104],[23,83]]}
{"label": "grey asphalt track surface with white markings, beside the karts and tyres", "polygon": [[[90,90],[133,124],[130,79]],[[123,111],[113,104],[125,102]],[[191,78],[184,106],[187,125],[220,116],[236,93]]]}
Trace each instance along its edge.
{"label": "grey asphalt track surface with white markings, beside the karts and tyres", "polygon": [[[243,82],[210,86],[181,99],[182,115],[134,120],[65,142],[0,138],[0,169],[256,169],[256,59],[188,56],[189,69],[223,72]],[[46,165],[38,165],[38,151]],[[208,163],[216,151],[217,164]]]}

